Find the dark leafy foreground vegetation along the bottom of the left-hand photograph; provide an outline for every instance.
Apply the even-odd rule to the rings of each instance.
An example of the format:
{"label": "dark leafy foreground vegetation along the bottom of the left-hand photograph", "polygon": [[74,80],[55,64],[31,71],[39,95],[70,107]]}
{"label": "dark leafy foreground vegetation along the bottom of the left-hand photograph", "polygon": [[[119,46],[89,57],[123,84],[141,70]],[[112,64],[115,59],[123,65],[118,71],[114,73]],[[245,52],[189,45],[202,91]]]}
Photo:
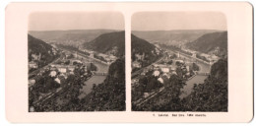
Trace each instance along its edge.
{"label": "dark leafy foreground vegetation along the bottom of the left-hand photograph", "polygon": [[[80,66],[75,69],[74,74],[70,75],[60,87],[62,90],[54,96],[40,104],[32,104],[35,97],[39,96],[39,89],[30,89],[30,106],[35,111],[120,111],[125,110],[125,60],[117,59],[112,63],[108,70],[108,75],[102,84],[94,85],[93,91],[80,99],[80,90],[85,85],[84,82],[92,76],[87,76],[85,70]],[[50,83],[52,84],[52,83]],[[40,85],[39,85],[40,86]],[[44,86],[43,86],[44,87]],[[53,86],[52,86],[53,87]],[[55,88],[56,89],[56,88]],[[48,91],[48,89],[46,90]],[[38,97],[37,97],[38,98]]]}

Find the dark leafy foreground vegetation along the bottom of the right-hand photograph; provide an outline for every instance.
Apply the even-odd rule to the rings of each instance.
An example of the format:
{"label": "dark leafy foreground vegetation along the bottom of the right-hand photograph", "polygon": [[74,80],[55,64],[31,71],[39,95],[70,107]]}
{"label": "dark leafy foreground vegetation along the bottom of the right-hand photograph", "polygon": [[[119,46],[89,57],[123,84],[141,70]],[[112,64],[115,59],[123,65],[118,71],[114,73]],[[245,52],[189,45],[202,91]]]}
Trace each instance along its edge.
{"label": "dark leafy foreground vegetation along the bottom of the right-hand photograph", "polygon": [[204,84],[194,85],[193,92],[180,98],[184,86],[182,78],[172,75],[169,84],[159,95],[142,105],[133,104],[135,111],[227,111],[227,59],[220,59],[212,66]]}

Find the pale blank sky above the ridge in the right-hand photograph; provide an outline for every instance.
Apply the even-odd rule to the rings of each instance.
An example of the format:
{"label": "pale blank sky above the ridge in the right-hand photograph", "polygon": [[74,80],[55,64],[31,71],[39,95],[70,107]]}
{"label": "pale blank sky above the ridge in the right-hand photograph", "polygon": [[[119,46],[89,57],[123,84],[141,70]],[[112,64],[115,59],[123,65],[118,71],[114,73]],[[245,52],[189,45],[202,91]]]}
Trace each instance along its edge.
{"label": "pale blank sky above the ridge in the right-hand photograph", "polygon": [[132,31],[218,30],[226,31],[219,12],[139,12],[132,16]]}

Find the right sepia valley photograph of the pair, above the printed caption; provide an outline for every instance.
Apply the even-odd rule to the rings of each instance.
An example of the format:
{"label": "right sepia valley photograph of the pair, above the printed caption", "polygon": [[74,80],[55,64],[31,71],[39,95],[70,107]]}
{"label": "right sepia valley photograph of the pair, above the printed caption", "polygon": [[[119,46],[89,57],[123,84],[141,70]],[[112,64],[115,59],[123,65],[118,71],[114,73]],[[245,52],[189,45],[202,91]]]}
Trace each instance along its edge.
{"label": "right sepia valley photograph of the pair, above the printed caption", "polygon": [[138,12],[131,24],[133,111],[228,111],[224,14]]}

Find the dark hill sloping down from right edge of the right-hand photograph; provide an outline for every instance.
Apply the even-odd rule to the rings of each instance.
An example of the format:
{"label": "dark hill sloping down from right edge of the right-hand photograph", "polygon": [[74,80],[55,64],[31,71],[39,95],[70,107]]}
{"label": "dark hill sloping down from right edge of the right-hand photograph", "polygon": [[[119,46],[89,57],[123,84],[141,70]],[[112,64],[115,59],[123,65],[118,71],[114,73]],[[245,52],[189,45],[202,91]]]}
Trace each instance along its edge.
{"label": "dark hill sloping down from right edge of the right-hand photograph", "polygon": [[227,53],[227,32],[206,33],[196,40],[186,43],[186,47],[204,53],[218,50],[218,55]]}

